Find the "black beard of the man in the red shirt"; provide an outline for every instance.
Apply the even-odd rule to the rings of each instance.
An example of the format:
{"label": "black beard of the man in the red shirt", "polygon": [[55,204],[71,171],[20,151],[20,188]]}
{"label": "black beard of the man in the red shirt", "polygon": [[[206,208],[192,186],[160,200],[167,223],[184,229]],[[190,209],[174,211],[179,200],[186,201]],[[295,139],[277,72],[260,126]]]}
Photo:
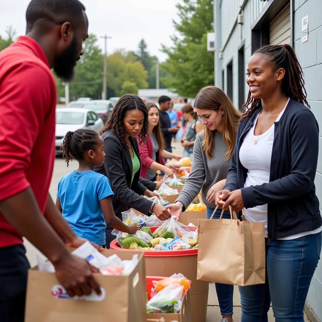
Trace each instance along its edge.
{"label": "black beard of the man in the red shirt", "polygon": [[74,33],[71,44],[57,58],[54,72],[64,82],[69,82],[74,77],[74,67],[77,57],[77,35]]}

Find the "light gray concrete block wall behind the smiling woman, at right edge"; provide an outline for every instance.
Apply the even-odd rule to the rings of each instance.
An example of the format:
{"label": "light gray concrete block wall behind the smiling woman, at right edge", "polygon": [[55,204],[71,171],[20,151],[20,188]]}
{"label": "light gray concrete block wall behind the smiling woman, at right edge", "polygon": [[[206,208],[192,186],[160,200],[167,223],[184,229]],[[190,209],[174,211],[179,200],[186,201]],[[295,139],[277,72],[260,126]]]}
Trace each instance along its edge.
{"label": "light gray concrete block wall behind the smiling woman, at right edge", "polygon": [[[302,18],[308,14],[308,41],[301,42]],[[307,100],[320,129],[319,157],[315,177],[316,194],[322,212],[322,1],[294,1],[294,49],[304,72]],[[322,260],[314,273],[308,304],[322,321]]]}

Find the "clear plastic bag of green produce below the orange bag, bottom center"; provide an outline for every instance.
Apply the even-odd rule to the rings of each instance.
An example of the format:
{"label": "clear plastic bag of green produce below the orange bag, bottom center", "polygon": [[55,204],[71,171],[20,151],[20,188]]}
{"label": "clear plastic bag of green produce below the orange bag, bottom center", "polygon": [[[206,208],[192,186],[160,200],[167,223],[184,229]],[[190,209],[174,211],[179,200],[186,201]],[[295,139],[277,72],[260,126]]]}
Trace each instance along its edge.
{"label": "clear plastic bag of green produce below the orange bag, bottom center", "polygon": [[147,302],[147,313],[177,313],[181,309],[184,287],[172,283],[156,293]]}

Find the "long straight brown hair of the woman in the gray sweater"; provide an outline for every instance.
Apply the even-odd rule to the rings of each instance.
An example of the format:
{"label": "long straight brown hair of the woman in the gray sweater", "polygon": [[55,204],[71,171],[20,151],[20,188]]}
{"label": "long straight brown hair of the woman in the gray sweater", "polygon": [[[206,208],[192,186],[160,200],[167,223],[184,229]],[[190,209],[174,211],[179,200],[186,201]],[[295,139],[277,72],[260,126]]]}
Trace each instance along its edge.
{"label": "long straight brown hair of the woman in the gray sweater", "polygon": [[[228,96],[216,86],[206,86],[202,88],[194,99],[194,106],[199,109],[213,109],[218,111],[223,108],[224,114],[221,122],[223,140],[228,146],[227,160],[232,157],[235,147],[237,128],[241,117],[241,112],[234,108]],[[206,155],[213,157],[213,131],[204,127],[204,140],[202,142]]]}

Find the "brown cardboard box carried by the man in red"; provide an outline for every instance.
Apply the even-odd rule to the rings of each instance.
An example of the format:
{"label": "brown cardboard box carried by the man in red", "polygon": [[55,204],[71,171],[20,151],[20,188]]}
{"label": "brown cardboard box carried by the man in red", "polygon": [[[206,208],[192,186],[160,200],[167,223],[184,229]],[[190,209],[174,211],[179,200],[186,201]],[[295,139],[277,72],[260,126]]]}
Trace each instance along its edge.
{"label": "brown cardboard box carried by the man in red", "polygon": [[30,269],[25,322],[133,322],[133,317],[136,317],[136,321],[145,321],[146,274],[143,253],[115,250],[102,252],[107,257],[117,254],[122,260],[132,259],[135,253],[138,254],[139,262],[129,276],[93,273],[103,289],[102,297],[95,300],[66,298],[59,289],[54,273],[40,272],[37,267]]}

